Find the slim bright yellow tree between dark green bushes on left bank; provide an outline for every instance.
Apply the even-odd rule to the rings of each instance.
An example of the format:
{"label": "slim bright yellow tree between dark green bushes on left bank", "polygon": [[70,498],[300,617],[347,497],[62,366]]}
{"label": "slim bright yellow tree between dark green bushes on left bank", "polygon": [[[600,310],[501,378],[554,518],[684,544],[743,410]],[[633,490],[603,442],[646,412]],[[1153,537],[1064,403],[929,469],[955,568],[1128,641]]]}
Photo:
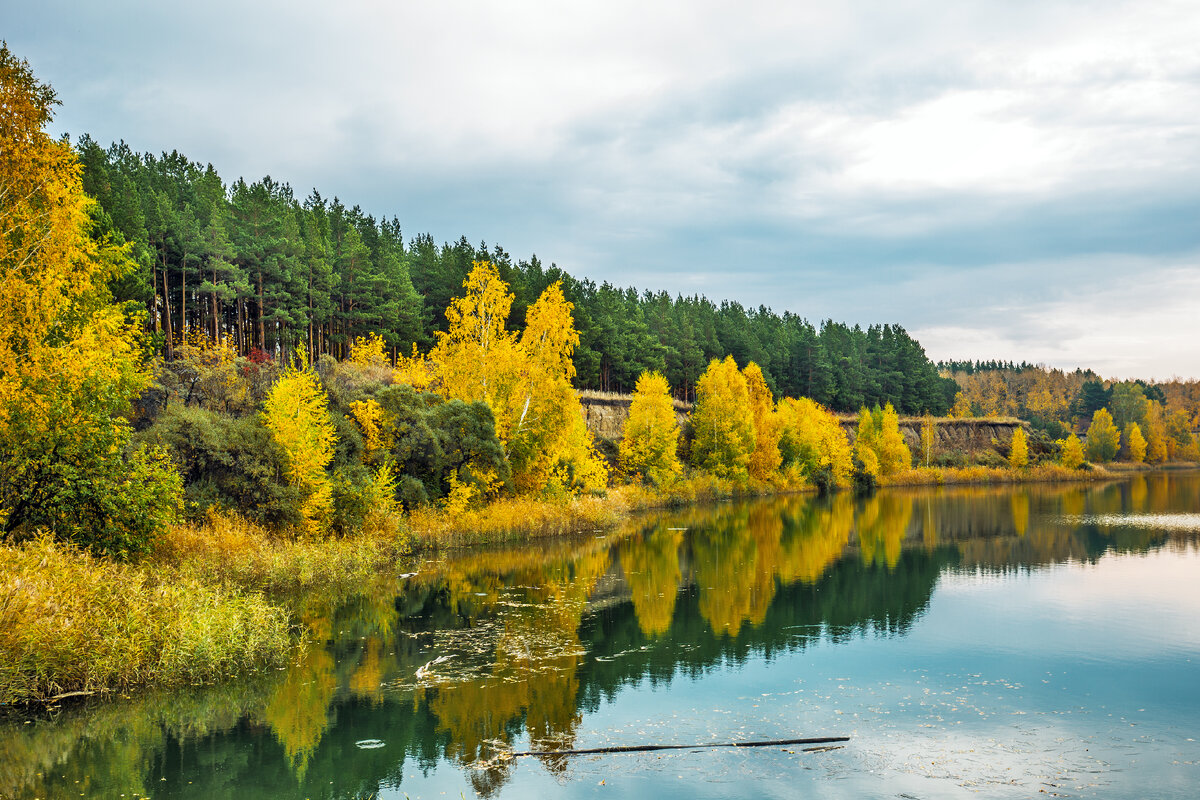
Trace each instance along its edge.
{"label": "slim bright yellow tree between dark green bushes on left bank", "polygon": [[311,533],[324,530],[334,506],[326,473],[337,433],[317,373],[302,360],[283,371],[263,403],[263,423],[287,453],[288,482],[300,489],[300,513]]}

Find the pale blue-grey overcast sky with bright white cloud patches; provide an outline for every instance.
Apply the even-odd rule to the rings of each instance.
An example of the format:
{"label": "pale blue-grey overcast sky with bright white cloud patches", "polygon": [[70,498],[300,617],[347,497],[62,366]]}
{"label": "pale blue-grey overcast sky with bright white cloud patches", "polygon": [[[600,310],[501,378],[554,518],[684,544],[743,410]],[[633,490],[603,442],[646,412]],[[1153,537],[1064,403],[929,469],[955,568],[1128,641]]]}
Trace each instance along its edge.
{"label": "pale blue-grey overcast sky with bright white cloud patches", "polygon": [[0,36],[58,132],[408,234],[934,359],[1200,377],[1194,0],[40,0]]}

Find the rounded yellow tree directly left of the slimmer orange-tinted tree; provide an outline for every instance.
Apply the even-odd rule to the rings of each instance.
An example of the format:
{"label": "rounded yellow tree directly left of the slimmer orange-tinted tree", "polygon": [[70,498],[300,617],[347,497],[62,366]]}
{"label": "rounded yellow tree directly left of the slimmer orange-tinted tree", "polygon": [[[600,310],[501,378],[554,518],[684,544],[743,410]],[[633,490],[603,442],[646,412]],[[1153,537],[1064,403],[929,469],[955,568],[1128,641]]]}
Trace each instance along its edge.
{"label": "rounded yellow tree directly left of the slimmer orange-tinted tree", "polygon": [[691,413],[692,463],[716,475],[745,481],[757,444],[745,375],[733,356],[713,359],[696,383]]}

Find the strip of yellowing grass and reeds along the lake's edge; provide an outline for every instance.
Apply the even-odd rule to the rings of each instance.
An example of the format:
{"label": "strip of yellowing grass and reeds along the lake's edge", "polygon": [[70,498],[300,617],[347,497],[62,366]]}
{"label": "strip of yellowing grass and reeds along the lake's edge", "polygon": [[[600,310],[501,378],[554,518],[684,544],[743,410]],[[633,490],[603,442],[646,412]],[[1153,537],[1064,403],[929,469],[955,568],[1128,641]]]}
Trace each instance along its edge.
{"label": "strip of yellowing grass and reeds along the lake's edge", "polygon": [[[1120,470],[1124,471],[1124,470]],[[1040,465],[922,468],[881,486],[1092,482],[1118,470]],[[422,509],[341,539],[281,535],[234,516],[172,528],[134,564],[48,539],[0,547],[0,704],[74,692],[216,682],[289,662],[313,599],[330,604],[416,571],[439,549],[616,528],[643,511],[812,492],[796,481],[746,485],[694,475],[670,489],[605,497],[504,498],[451,515]]]}

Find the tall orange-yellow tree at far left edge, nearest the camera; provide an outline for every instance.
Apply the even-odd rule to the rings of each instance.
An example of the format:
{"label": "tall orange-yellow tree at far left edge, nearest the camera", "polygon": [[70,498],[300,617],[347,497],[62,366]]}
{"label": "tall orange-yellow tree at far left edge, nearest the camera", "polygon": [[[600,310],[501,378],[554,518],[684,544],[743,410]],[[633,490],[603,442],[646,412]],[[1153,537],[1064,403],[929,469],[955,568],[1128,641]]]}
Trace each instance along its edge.
{"label": "tall orange-yellow tree at far left edge, nearest the camera", "polygon": [[180,480],[161,451],[128,451],[122,413],[150,371],[108,283],[132,264],[91,235],[76,154],[43,131],[55,103],[0,44],[0,537],[43,528],[125,555],[174,518]]}

